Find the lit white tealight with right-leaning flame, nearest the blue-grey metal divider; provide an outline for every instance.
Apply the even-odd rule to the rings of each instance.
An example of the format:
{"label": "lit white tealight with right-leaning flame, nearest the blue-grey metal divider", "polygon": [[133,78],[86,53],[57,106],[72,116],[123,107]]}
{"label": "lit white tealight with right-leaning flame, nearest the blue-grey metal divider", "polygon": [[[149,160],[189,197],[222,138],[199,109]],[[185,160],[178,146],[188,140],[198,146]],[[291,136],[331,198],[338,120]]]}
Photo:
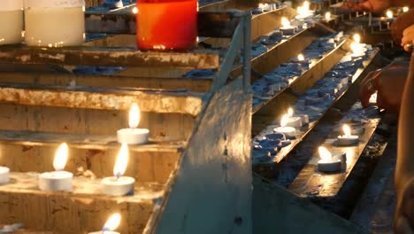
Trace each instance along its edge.
{"label": "lit white tealight with right-leaning flame, nearest the blue-grey metal divider", "polygon": [[133,177],[122,176],[128,164],[128,145],[122,144],[117,161],[113,167],[113,176],[105,177],[101,181],[100,187],[106,195],[124,196],[134,193],[135,179]]}

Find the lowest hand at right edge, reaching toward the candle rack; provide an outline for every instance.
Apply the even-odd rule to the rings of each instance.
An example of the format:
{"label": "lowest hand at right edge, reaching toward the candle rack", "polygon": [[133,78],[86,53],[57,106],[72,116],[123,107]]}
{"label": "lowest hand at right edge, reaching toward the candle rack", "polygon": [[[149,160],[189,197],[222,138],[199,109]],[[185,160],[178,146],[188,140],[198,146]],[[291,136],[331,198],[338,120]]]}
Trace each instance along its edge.
{"label": "lowest hand at right edge, reaching toward the candle rack", "polygon": [[372,94],[377,92],[377,105],[388,112],[398,113],[407,73],[406,68],[390,65],[368,74],[359,89],[362,105],[367,107]]}

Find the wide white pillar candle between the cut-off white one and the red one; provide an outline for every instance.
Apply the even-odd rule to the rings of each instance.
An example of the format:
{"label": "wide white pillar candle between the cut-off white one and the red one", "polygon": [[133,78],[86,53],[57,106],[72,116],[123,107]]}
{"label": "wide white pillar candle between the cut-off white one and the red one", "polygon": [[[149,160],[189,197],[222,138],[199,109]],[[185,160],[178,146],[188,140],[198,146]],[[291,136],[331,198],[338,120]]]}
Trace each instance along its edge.
{"label": "wide white pillar candle between the cut-off white one and the red one", "polygon": [[25,41],[29,46],[77,46],[84,42],[83,0],[25,0]]}

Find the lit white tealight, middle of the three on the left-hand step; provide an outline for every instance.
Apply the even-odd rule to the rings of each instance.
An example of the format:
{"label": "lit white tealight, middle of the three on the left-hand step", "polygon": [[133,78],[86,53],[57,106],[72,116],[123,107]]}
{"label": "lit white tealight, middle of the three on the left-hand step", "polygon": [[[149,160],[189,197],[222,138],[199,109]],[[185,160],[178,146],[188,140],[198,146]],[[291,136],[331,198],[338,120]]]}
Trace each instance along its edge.
{"label": "lit white tealight, middle of the three on the left-hand step", "polygon": [[60,144],[53,160],[55,171],[39,175],[39,188],[42,191],[71,191],[73,174],[64,171],[68,156],[67,144]]}

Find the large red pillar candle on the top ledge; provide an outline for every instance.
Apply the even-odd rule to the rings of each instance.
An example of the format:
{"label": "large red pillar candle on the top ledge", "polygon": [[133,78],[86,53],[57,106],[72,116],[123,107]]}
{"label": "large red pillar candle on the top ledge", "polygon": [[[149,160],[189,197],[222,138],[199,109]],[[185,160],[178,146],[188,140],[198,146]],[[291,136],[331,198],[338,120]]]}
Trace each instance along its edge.
{"label": "large red pillar candle on the top ledge", "polygon": [[136,2],[136,36],[140,49],[196,47],[196,0],[142,0]]}

